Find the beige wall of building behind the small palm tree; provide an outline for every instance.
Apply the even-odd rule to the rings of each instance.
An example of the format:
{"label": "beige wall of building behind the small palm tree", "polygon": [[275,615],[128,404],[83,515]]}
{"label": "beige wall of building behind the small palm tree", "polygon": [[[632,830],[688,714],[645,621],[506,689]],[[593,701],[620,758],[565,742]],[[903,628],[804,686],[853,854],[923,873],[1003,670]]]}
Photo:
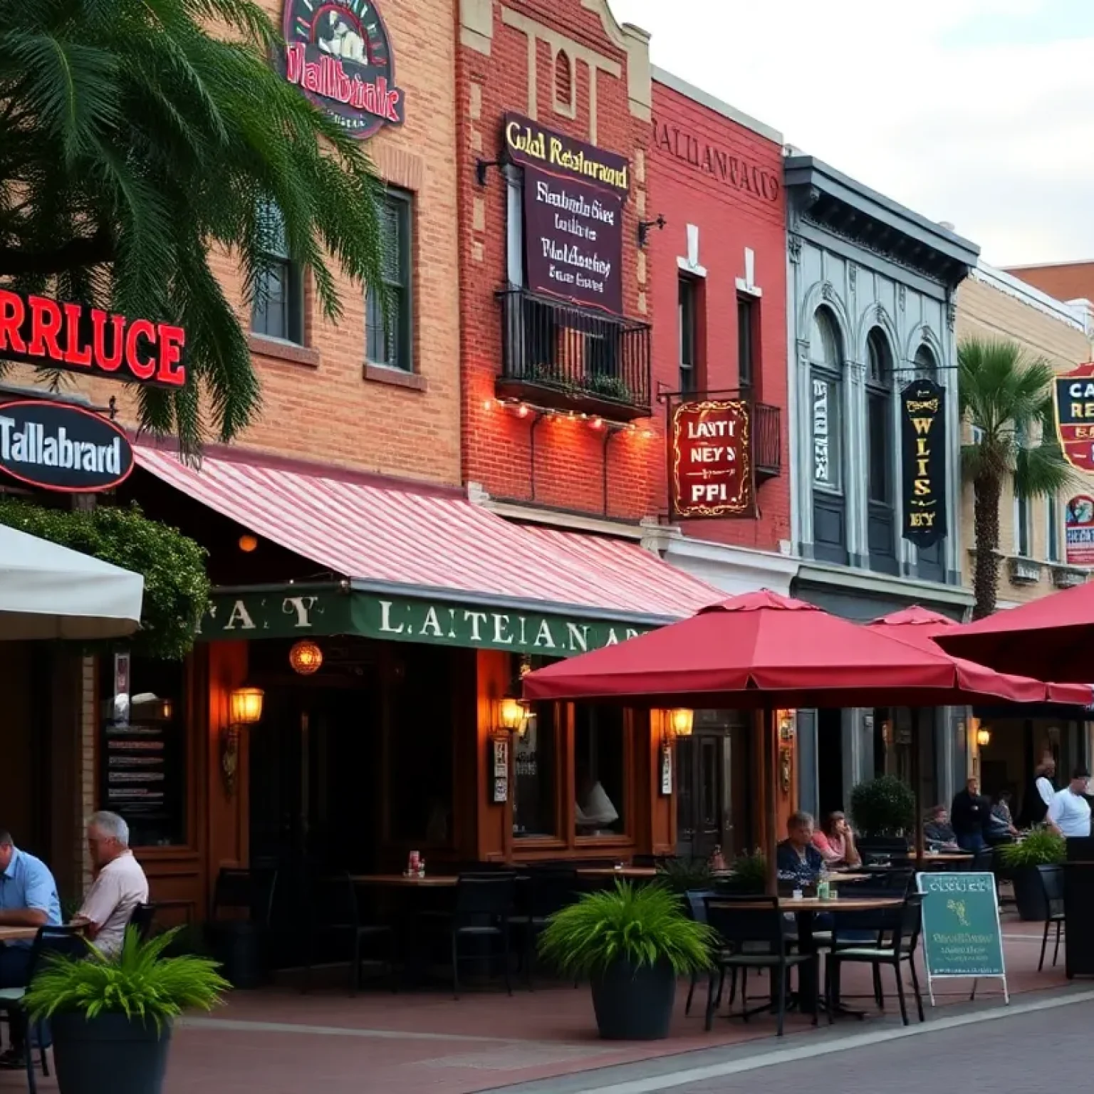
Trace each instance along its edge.
{"label": "beige wall of building behind the small palm tree", "polygon": [[[1031,357],[1043,357],[1060,372],[1091,359],[1091,344],[1086,335],[1073,324],[1049,314],[1045,305],[1035,300],[1019,299],[989,279],[974,276],[957,290],[957,339],[1012,339]],[[966,440],[968,428],[966,427]],[[1091,484],[1094,489],[1094,481]],[[1059,499],[1055,519],[1059,522],[1061,557],[1063,544],[1063,503]],[[999,549],[1006,556],[1000,567],[999,600],[1022,603],[1036,600],[1055,591],[1052,570],[1047,565],[1049,507],[1045,499],[1033,501],[1033,558],[1043,563],[1040,580],[1035,584],[1015,585],[1010,578],[1010,559],[1016,554],[1014,527],[1014,493],[1008,484],[999,512]],[[973,527],[973,487],[965,485],[962,494],[962,545],[964,548],[963,580],[971,585],[971,549],[976,544]]]}

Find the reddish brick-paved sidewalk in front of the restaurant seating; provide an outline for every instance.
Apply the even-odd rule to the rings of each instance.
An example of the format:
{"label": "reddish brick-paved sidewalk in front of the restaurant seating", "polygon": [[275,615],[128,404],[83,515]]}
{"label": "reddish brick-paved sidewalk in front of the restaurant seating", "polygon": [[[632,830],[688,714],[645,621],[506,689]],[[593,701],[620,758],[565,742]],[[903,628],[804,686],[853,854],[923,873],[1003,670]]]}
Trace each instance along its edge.
{"label": "reddish brick-paved sidewalk in front of the restaurant seating", "polygon": [[[1058,990],[1067,982],[1062,965],[1036,971],[1037,924],[1004,920],[1003,935],[1012,994]],[[237,992],[214,1016],[188,1020],[175,1033],[166,1094],[473,1094],[699,1049],[773,1043],[775,1022],[766,1015],[745,1025],[726,1020],[723,1010],[714,1029],[705,1033],[706,987],[700,985],[686,1016],[686,981],[672,1037],[644,1044],[600,1040],[586,987],[519,988],[512,999],[491,989],[455,1001],[447,993],[383,990],[350,999],[341,977],[338,984],[309,996],[291,987]],[[942,981],[936,989],[940,1005],[968,999],[964,981]],[[896,1006],[891,979],[885,990],[887,1019],[873,1016],[872,1001],[863,999],[871,1016],[862,1023],[843,1020],[837,1028],[851,1033],[891,1021]],[[869,994],[869,974],[847,970],[845,994]],[[979,996],[977,1005],[1002,1002],[998,984],[985,982]],[[807,1017],[788,1017],[788,1033],[808,1028]],[[24,1087],[21,1074],[0,1073],[0,1091]],[[39,1089],[56,1085],[46,1080]]]}

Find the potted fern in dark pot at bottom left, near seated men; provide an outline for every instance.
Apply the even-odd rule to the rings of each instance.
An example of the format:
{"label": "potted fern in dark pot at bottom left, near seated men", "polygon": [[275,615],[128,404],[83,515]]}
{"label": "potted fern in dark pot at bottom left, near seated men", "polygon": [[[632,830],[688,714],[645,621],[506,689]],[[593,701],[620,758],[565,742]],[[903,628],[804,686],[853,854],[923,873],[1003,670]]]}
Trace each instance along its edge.
{"label": "potted fern in dark pot at bottom left, near seated men", "polygon": [[106,957],[89,945],[85,958],[49,955],[24,997],[32,1022],[53,1031],[61,1094],[159,1094],[174,1020],[211,1010],[228,989],[214,962],[164,957],[176,931],[141,942],[126,931]]}

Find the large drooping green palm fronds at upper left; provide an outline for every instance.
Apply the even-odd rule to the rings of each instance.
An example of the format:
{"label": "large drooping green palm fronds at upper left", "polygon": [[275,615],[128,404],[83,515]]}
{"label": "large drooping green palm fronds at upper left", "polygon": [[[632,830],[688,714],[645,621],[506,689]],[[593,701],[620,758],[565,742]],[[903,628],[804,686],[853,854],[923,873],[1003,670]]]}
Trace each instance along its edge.
{"label": "large drooping green palm fronds at upper left", "polygon": [[380,184],[275,71],[283,45],[254,0],[30,0],[0,24],[0,283],[185,327],[190,383],[142,388],[140,412],[191,451],[259,407],[211,254],[252,304],[272,203],[328,319],[331,259],[381,283]]}

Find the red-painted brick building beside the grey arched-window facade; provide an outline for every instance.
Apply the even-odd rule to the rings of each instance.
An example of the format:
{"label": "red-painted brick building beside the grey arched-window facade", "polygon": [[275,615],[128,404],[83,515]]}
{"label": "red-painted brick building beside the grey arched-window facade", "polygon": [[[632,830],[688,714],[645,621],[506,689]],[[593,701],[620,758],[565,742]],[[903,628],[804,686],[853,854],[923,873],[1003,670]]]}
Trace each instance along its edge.
{"label": "red-painted brick building beside the grey arched-window facade", "polygon": [[666,216],[649,247],[656,387],[754,404],[756,515],[683,531],[778,551],[790,538],[782,138],[654,69],[649,163],[651,213]]}

